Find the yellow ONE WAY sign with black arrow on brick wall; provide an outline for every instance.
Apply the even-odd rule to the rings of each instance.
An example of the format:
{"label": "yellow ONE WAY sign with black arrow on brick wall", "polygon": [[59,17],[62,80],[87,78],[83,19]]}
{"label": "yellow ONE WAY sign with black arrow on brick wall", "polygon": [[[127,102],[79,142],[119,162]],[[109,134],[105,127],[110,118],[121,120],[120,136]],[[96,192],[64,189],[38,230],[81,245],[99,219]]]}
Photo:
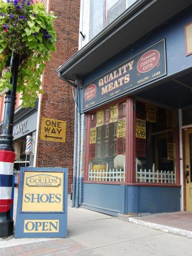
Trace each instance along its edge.
{"label": "yellow ONE WAY sign with black arrow on brick wall", "polygon": [[41,140],[65,142],[66,121],[42,117]]}

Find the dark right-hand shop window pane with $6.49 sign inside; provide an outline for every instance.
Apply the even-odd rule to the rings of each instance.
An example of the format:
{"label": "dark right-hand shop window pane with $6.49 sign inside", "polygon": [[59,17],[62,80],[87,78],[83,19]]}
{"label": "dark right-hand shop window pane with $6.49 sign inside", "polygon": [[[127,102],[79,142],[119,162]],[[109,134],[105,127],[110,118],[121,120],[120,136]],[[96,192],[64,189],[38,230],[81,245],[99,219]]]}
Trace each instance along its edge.
{"label": "dark right-hand shop window pane with $6.49 sign inside", "polygon": [[176,183],[176,113],[136,103],[136,181]]}

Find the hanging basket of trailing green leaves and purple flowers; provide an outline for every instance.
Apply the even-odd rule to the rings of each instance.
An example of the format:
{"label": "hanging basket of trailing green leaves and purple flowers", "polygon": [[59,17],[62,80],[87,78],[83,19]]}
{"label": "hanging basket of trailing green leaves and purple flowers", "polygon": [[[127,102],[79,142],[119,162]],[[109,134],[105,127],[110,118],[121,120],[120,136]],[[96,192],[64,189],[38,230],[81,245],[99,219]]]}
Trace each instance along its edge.
{"label": "hanging basket of trailing green leaves and purple flowers", "polygon": [[[42,93],[41,75],[45,62],[55,51],[54,13],[32,0],[0,0],[0,93],[12,88],[7,63],[12,54],[20,55],[17,92],[23,107],[33,106]],[[9,71],[9,72],[8,72]]]}

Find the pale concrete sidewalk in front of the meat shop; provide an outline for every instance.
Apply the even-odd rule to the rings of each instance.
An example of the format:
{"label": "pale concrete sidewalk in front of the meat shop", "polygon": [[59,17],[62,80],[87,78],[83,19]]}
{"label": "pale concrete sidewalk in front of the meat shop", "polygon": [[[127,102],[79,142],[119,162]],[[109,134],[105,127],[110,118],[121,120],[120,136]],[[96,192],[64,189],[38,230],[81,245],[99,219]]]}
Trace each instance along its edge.
{"label": "pale concrete sidewalk in front of the meat shop", "polygon": [[[0,255],[192,255],[190,238],[149,229],[84,208],[71,208],[71,201],[68,205],[68,238],[0,239]],[[130,219],[157,223],[155,216],[162,220],[159,224],[164,221],[166,225],[170,223],[167,217],[163,221],[163,215]],[[183,221],[190,226],[190,215]],[[174,222],[177,224],[178,221]]]}

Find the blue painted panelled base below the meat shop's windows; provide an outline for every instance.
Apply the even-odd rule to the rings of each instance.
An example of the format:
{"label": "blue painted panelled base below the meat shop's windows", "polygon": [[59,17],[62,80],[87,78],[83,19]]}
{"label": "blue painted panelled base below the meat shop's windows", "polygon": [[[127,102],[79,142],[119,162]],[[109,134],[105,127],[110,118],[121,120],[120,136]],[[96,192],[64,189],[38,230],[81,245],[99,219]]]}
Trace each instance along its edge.
{"label": "blue painted panelled base below the meat shop's windows", "polygon": [[84,183],[82,207],[108,215],[180,211],[180,187]]}

